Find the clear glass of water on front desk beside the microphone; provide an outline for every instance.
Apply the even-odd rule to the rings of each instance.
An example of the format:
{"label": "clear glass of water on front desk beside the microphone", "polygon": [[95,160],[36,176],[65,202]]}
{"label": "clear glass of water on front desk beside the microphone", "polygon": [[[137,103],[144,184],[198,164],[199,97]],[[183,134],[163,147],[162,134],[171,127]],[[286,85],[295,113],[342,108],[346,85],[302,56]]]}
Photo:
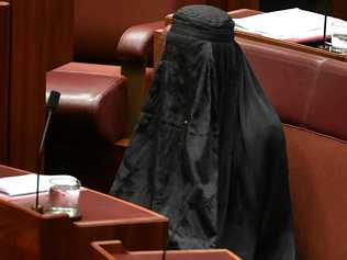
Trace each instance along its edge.
{"label": "clear glass of water on front desk beside the microphone", "polygon": [[66,213],[70,217],[79,216],[78,200],[80,192],[79,180],[72,177],[57,177],[51,179],[48,213]]}

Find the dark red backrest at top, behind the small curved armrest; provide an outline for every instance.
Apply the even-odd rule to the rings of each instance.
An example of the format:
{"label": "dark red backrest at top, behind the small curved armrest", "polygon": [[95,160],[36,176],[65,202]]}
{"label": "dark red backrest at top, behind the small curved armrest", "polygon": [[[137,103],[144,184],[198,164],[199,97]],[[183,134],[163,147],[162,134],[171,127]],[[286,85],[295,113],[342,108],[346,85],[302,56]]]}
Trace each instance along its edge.
{"label": "dark red backrest at top, behind the small curved armrest", "polygon": [[224,0],[75,0],[76,60],[114,64],[116,44],[126,29],[198,3],[224,7]]}

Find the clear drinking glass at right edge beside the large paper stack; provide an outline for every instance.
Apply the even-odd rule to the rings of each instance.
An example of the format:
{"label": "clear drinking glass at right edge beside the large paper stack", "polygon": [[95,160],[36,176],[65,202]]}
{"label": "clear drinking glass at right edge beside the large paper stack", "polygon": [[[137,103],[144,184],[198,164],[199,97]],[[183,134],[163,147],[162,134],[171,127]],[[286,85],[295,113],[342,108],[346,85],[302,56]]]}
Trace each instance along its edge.
{"label": "clear drinking glass at right edge beside the large paper stack", "polygon": [[332,47],[336,53],[347,53],[347,22],[335,21],[332,23]]}

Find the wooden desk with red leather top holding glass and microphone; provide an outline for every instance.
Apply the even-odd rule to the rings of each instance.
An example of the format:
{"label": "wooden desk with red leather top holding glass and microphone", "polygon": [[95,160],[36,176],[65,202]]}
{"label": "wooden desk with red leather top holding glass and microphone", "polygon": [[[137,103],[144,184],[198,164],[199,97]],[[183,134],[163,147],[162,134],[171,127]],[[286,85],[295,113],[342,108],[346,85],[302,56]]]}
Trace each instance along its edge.
{"label": "wooden desk with red leather top holding glass and microphone", "polygon": [[[0,176],[27,173],[0,166]],[[160,250],[168,219],[157,213],[89,189],[81,191],[81,219],[40,215],[30,210],[35,196],[0,199],[0,252],[13,260],[90,259],[93,240],[120,239],[131,250]],[[45,206],[47,194],[40,195]],[[25,256],[25,257],[24,257]]]}

